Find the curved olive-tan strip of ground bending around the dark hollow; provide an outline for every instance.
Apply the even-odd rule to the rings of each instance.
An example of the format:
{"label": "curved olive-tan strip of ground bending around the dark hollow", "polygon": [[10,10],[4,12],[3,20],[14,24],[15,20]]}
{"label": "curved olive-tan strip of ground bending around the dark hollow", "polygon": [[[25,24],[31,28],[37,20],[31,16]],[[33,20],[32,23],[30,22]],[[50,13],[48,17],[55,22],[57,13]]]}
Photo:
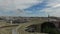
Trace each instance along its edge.
{"label": "curved olive-tan strip of ground bending around the dark hollow", "polygon": [[[43,23],[43,22],[40,22],[40,23]],[[32,22],[32,23],[23,23],[23,24],[20,24],[16,30],[18,30],[18,34],[45,34],[45,33],[29,33],[29,32],[26,32],[25,31],[25,28],[30,26],[30,25],[33,25],[33,24],[39,24],[38,22]]]}

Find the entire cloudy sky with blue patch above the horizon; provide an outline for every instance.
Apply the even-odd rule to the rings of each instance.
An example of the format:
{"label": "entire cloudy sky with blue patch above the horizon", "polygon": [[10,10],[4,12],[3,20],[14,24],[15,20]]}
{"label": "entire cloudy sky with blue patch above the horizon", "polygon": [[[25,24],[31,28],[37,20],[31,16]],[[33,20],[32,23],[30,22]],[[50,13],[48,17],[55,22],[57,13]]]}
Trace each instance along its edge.
{"label": "entire cloudy sky with blue patch above the horizon", "polygon": [[0,0],[0,16],[60,17],[60,0]]}

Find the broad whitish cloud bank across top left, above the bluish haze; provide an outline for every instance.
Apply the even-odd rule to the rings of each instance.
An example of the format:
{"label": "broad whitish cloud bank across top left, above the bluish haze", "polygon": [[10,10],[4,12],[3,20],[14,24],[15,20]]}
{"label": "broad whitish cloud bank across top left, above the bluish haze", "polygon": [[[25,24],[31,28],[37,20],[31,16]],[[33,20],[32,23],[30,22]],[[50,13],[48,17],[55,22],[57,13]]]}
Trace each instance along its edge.
{"label": "broad whitish cloud bank across top left, above the bluish haze", "polygon": [[40,2],[39,0],[0,0],[0,6],[10,9],[25,9]]}

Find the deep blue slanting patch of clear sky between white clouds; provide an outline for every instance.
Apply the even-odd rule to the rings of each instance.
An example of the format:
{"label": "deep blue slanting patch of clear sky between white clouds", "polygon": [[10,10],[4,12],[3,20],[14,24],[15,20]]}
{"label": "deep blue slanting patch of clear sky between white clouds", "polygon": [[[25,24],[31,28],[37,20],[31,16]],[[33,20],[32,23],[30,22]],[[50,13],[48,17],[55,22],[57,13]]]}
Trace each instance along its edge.
{"label": "deep blue slanting patch of clear sky between white clouds", "polygon": [[33,5],[33,6],[27,8],[27,9],[24,9],[24,10],[27,10],[27,11],[42,10],[42,9],[44,9],[44,8],[47,7],[47,4],[48,4],[47,1],[48,1],[48,0],[44,0],[44,1],[42,1],[41,3],[38,3],[38,4],[36,4],[36,5]]}

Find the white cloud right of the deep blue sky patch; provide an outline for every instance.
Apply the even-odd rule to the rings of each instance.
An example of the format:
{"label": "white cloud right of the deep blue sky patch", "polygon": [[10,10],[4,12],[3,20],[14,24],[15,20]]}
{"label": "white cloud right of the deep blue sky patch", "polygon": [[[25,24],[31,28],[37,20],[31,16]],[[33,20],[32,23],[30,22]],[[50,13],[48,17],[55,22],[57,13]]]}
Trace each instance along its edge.
{"label": "white cloud right of the deep blue sky patch", "polygon": [[45,11],[47,14],[49,13],[51,16],[60,17],[60,0],[49,0],[47,6],[49,8],[45,8],[42,11]]}

